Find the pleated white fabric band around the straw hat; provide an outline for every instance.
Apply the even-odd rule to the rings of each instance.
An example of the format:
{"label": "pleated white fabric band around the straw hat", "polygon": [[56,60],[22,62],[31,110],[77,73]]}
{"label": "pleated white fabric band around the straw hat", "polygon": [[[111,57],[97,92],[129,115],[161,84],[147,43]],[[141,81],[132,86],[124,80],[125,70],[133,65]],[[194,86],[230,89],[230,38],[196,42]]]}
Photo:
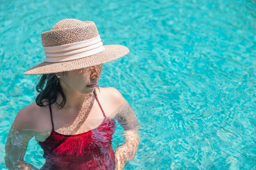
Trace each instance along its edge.
{"label": "pleated white fabric band around the straw hat", "polygon": [[45,51],[46,62],[60,62],[80,59],[105,50],[99,35],[85,41],[43,48]]}

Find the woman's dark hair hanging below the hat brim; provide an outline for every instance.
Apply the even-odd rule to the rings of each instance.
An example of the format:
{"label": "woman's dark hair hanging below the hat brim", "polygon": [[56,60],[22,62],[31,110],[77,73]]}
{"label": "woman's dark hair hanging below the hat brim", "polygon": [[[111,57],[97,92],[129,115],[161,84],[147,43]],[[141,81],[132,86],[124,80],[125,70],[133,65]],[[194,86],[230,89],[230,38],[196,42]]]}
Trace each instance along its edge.
{"label": "woman's dark hair hanging below the hat brim", "polygon": [[[63,72],[63,78],[65,78],[65,74],[66,72]],[[97,85],[95,88],[99,89],[99,86]],[[42,74],[40,81],[36,85],[36,91],[39,93],[38,96],[36,96],[36,104],[40,107],[55,103],[58,107],[63,108],[66,103],[66,97],[60,83],[58,83],[58,78],[55,73]],[[56,102],[57,95],[61,95],[63,99],[61,103]],[[45,101],[47,101],[48,104],[43,105]]]}

